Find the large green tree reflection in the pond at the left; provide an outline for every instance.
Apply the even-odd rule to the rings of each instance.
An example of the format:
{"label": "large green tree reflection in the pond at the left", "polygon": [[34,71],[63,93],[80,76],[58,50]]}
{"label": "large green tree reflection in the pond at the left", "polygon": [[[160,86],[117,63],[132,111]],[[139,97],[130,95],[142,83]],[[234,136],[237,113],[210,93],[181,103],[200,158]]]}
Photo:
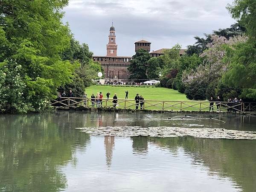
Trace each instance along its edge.
{"label": "large green tree reflection in the pond at the left", "polygon": [[88,134],[71,128],[67,114],[1,116],[0,189],[3,191],[58,191],[67,187],[58,169],[69,162],[75,145],[84,146]]}

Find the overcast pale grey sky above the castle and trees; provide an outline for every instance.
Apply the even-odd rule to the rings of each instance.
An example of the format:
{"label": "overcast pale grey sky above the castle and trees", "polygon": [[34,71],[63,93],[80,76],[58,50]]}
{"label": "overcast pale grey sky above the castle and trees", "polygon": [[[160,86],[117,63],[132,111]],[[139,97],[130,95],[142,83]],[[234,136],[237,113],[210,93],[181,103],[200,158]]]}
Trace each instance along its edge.
{"label": "overcast pale grey sky above the castle and trees", "polygon": [[70,0],[64,22],[75,38],[89,45],[94,55],[106,55],[112,20],[117,54],[134,55],[134,42],[150,41],[151,51],[183,48],[212,30],[235,23],[225,8],[233,0]]}

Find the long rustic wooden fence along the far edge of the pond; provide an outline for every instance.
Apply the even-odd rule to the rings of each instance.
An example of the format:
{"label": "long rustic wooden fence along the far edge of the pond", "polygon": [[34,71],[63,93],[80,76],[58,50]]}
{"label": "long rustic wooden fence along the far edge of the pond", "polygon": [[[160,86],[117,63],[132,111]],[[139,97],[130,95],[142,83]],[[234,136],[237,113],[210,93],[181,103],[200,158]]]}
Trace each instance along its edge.
{"label": "long rustic wooden fence along the far edge of the pond", "polygon": [[[117,101],[114,103],[114,101]],[[80,97],[61,97],[52,99],[52,106],[79,106],[84,105],[90,108],[112,107],[116,108],[137,108],[151,110],[170,110],[170,111],[256,111],[256,102],[208,102],[208,101],[159,101],[159,100],[144,100],[138,103],[134,99],[90,99]]]}

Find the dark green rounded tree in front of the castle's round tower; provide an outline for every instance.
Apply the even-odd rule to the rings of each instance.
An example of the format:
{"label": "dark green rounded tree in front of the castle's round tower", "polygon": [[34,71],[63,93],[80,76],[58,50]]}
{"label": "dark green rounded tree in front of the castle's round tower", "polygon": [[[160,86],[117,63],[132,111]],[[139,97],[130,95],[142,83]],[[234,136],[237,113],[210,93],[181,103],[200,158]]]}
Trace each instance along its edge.
{"label": "dark green rounded tree in front of the castle's round tower", "polygon": [[147,79],[147,65],[150,54],[145,49],[138,49],[133,55],[131,64],[128,67],[131,76],[129,79]]}

